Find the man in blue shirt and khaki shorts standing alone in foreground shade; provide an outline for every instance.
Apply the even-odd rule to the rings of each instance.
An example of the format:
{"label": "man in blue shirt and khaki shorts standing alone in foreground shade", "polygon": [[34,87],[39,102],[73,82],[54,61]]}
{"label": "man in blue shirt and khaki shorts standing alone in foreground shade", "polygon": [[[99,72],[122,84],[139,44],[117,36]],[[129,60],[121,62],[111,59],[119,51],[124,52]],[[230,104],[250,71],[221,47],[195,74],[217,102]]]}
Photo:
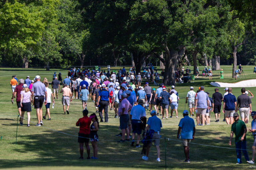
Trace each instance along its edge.
{"label": "man in blue shirt and khaki shorts standing alone in foreground shade", "polygon": [[184,118],[182,118],[180,120],[179,123],[179,128],[178,128],[178,134],[177,134],[177,138],[179,138],[180,136],[180,131],[181,131],[181,140],[183,143],[183,148],[184,148],[184,153],[186,156],[186,159],[184,162],[190,162],[189,159],[189,142],[191,142],[191,140],[194,139],[195,136],[195,122],[194,119],[190,118],[188,116],[188,111],[184,110],[183,111],[183,116]]}

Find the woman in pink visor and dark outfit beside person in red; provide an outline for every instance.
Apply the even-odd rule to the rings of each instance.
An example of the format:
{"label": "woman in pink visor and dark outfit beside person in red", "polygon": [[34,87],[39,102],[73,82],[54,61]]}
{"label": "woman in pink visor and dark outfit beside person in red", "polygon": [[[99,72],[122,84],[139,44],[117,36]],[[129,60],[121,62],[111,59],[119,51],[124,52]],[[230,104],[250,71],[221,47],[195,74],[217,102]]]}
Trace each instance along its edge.
{"label": "woman in pink visor and dark outfit beside person in red", "polygon": [[99,136],[97,134],[98,128],[99,128],[99,122],[98,118],[95,113],[91,114],[89,117],[92,121],[91,127],[90,127],[90,141],[92,142],[93,147],[93,156],[91,159],[98,159],[98,148],[97,148],[97,141],[99,141]]}

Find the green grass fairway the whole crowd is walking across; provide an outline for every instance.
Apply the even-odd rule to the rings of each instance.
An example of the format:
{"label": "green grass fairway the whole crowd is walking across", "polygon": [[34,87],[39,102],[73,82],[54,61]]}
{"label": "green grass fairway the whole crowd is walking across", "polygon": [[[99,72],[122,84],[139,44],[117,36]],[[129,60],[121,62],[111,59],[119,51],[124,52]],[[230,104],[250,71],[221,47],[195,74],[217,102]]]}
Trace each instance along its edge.
{"label": "green grass fairway the whole crowd is walking across", "polygon": [[[224,69],[224,79],[222,82],[237,82],[232,77],[232,66],[221,66]],[[117,68],[113,68],[116,69]],[[193,69],[192,67],[190,68]],[[200,67],[200,70],[203,66]],[[111,68],[112,70],[112,68]],[[13,69],[2,68],[0,76],[0,168],[15,168],[15,169],[165,169],[165,148],[164,139],[161,139],[160,148],[161,162],[156,162],[156,149],[151,148],[149,154],[149,161],[145,162],[141,159],[141,149],[131,147],[129,143],[118,143],[114,140],[120,140],[120,137],[116,137],[118,134],[119,120],[114,119],[114,111],[108,111],[109,122],[101,123],[98,131],[98,157],[99,160],[78,160],[79,146],[77,143],[77,137],[65,135],[52,131],[48,128],[59,130],[64,133],[77,135],[79,128],[75,126],[75,123],[82,117],[82,104],[80,100],[74,99],[70,105],[70,114],[64,115],[61,105],[61,98],[55,99],[56,104],[54,109],[50,108],[51,121],[43,121],[42,127],[26,127],[18,126],[18,138],[17,145],[15,145],[16,128],[17,128],[17,106],[11,104],[11,88],[9,86],[10,78],[12,75],[17,75],[17,78],[23,78],[29,75],[31,78],[35,75],[41,77],[47,77],[51,81],[54,71],[57,73],[62,72],[62,76],[66,75],[66,70],[53,69],[51,71],[45,71],[44,69]],[[244,66],[246,79],[252,79],[256,77],[253,74],[253,66]],[[219,71],[213,71],[212,81],[220,81],[218,77]],[[214,88],[209,83],[207,78],[196,78],[194,83],[177,84],[175,88],[179,92],[179,107],[178,107],[178,119],[169,118],[168,120],[162,120],[163,128],[161,130],[162,137],[168,137],[177,139],[177,129],[179,120],[182,118],[182,111],[184,110],[185,96],[189,91],[190,86],[194,86],[195,90],[201,86],[205,86],[205,91],[210,93],[210,96],[214,93]],[[152,84],[150,84],[151,86]],[[154,87],[154,86],[152,86]],[[156,88],[156,87],[155,87]],[[167,86],[170,88],[170,86]],[[224,88],[219,88],[220,93],[224,93]],[[233,94],[237,97],[240,95],[241,88],[233,88]],[[256,94],[256,88],[247,88],[254,95]],[[61,95],[61,94],[59,94]],[[15,101],[15,99],[14,99]],[[252,99],[252,103],[255,102],[255,98]],[[87,108],[89,114],[95,111],[94,103],[89,101]],[[186,105],[187,108],[187,105]],[[252,110],[256,110],[256,106],[252,104]],[[43,114],[45,107],[43,107]],[[146,112],[149,117],[149,111]],[[25,118],[27,116],[25,115]],[[195,120],[195,117],[193,117]],[[221,114],[221,120],[223,114]],[[250,118],[251,120],[251,118]],[[32,109],[31,112],[31,125],[32,122],[36,122],[36,112]],[[196,127],[196,134],[194,143],[207,144],[214,146],[232,147],[234,148],[234,139],[232,140],[232,146],[228,145],[230,125],[226,125],[225,122],[215,123],[214,114],[211,114],[211,125],[204,127]],[[26,125],[26,121],[24,121]],[[47,127],[47,128],[44,128]],[[250,127],[250,124],[247,125]],[[247,148],[251,149],[253,143],[253,137],[247,133]],[[142,144],[141,144],[142,145]],[[91,146],[91,144],[90,144]],[[93,153],[91,147],[91,154]],[[251,158],[252,152],[248,151]],[[86,157],[86,152],[84,153]],[[242,165],[236,165],[236,152],[233,149],[215,148],[209,146],[201,146],[190,144],[190,158],[191,163],[185,164],[182,161],[185,159],[183,147],[181,142],[166,140],[166,163],[167,169],[245,169],[249,168],[249,165],[245,163],[245,159],[242,156]]]}

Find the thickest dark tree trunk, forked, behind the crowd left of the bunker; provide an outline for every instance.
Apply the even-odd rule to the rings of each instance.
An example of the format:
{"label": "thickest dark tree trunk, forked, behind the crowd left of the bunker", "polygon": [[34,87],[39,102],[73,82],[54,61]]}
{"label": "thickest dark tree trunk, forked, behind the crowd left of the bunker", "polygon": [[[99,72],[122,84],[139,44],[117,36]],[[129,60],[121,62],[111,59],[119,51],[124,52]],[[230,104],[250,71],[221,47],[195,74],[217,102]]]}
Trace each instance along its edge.
{"label": "thickest dark tree trunk, forked, behind the crowd left of the bunker", "polygon": [[167,44],[165,47],[165,71],[164,71],[164,84],[165,85],[175,85],[175,70],[179,64],[180,59],[185,53],[185,47],[179,46],[178,50],[169,50]]}

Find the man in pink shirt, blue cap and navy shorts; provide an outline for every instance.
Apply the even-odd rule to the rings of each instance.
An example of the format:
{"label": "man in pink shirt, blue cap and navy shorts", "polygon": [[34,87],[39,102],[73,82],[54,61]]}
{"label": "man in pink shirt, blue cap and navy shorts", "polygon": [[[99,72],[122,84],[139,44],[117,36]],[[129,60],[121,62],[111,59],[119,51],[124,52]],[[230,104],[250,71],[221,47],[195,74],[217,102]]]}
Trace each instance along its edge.
{"label": "man in pink shirt, blue cap and navy shorts", "polygon": [[126,132],[126,140],[129,141],[129,129],[128,129],[128,121],[129,121],[129,115],[128,112],[131,111],[132,109],[132,105],[130,104],[130,102],[126,99],[127,98],[127,94],[124,92],[121,95],[122,98],[122,102],[120,103],[120,106],[118,108],[118,116],[120,116],[120,128],[122,130],[122,139],[120,140],[120,142],[125,142],[125,132]]}

